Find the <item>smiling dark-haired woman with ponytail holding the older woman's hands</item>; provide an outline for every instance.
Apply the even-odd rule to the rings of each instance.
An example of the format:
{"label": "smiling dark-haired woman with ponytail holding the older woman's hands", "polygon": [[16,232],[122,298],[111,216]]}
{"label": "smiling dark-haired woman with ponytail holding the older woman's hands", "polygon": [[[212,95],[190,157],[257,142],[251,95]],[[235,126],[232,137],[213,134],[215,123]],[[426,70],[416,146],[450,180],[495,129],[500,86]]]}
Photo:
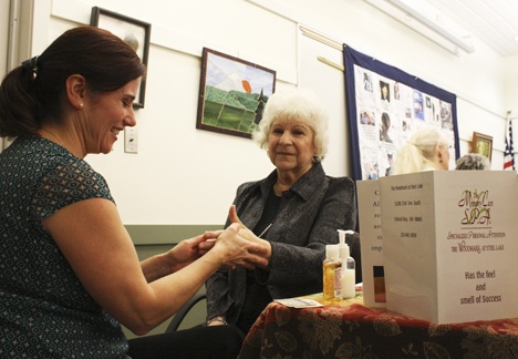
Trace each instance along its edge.
{"label": "smiling dark-haired woman with ponytail holding the older woman's hands", "polygon": [[[220,266],[265,263],[238,224],[138,261],[106,182],[83,158],[110,153],[136,124],[145,71],[120,38],[80,27],[3,80],[0,135],[17,139],[0,154],[0,357],[125,357],[121,324],[144,335]],[[240,332],[201,329],[145,337],[130,355],[237,355]]]}

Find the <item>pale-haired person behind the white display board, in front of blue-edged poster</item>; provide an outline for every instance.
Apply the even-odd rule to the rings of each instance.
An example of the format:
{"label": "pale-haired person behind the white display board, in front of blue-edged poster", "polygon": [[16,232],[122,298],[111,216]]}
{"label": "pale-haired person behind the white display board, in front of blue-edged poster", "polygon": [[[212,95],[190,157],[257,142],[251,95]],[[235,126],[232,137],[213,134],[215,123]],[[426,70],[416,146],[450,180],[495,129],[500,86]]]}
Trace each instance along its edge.
{"label": "pale-haired person behind the white display board, in front of blue-edged poster", "polygon": [[449,139],[441,129],[417,130],[397,152],[391,175],[448,170]]}

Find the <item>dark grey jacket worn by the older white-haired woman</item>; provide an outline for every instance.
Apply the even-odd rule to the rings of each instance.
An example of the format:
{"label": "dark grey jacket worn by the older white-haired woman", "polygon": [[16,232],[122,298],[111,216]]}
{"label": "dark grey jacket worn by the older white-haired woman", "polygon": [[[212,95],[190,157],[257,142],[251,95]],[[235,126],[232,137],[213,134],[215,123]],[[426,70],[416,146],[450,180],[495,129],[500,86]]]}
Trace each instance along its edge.
{"label": "dark grey jacket worn by the older white-haired woman", "polygon": [[[237,189],[237,213],[253,229],[261,218],[272,185],[273,171],[262,181]],[[256,269],[273,299],[322,291],[325,245],[338,244],[336,229],[353,229],[356,220],[355,187],[349,177],[327,176],[315,164],[283,193],[277,217],[265,236],[271,243],[270,271]],[[226,226],[229,225],[227,220]],[[245,300],[246,270],[218,270],[207,280],[207,318],[226,315],[235,324]]]}

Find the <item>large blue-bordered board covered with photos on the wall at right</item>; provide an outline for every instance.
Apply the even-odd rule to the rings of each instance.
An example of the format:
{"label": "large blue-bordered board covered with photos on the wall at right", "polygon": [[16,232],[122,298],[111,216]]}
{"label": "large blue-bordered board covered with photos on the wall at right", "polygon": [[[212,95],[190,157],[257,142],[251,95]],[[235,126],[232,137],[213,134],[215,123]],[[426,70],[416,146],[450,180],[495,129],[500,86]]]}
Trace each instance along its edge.
{"label": "large blue-bordered board covered with photos on the wall at right", "polygon": [[449,167],[459,154],[456,95],[344,45],[345,96],[355,180],[390,173],[397,150],[427,125],[449,137]]}

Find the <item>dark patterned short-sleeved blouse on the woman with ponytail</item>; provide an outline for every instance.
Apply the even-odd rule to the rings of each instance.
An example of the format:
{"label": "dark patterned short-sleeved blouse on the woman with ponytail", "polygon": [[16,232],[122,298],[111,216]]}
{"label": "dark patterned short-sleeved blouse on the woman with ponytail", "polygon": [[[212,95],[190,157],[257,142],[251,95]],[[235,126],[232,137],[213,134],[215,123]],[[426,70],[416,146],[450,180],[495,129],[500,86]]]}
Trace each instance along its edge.
{"label": "dark patterned short-sleeved blouse on the woman with ponytail", "polygon": [[113,202],[99,173],[51,141],[20,136],[0,154],[0,357],[125,357],[121,325],[41,224],[93,197]]}

